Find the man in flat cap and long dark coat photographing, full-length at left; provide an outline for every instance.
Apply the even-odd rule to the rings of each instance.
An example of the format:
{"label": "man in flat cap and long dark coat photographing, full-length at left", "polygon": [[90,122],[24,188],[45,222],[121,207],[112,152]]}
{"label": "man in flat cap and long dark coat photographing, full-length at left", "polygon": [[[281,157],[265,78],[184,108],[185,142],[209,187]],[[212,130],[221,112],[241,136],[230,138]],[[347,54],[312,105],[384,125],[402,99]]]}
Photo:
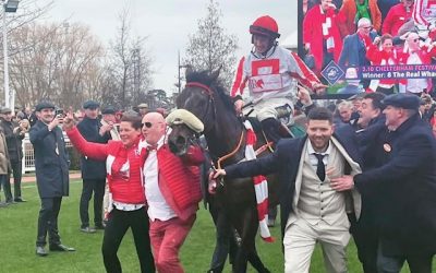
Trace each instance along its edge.
{"label": "man in flat cap and long dark coat photographing, full-length at left", "polygon": [[35,110],[38,121],[31,128],[29,136],[35,151],[36,185],[41,200],[36,254],[44,257],[48,254],[44,248],[47,233],[50,251],[74,251],[61,244],[58,233],[62,197],[69,195],[69,155],[59,128],[63,117],[55,116],[55,105],[39,103]]}

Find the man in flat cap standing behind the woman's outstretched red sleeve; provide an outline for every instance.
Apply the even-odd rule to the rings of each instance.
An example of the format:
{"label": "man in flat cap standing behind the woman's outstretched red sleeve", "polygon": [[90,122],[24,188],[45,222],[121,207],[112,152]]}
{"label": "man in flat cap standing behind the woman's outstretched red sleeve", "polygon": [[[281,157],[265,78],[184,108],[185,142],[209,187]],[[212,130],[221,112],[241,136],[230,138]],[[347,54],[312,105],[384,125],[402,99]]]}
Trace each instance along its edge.
{"label": "man in flat cap standing behind the woman's outstretched red sleeve", "polygon": [[[87,100],[83,104],[85,117],[77,124],[77,129],[86,141],[96,143],[107,143],[110,140],[109,131],[111,124],[101,124],[98,118],[100,104],[94,100]],[[95,161],[86,156],[81,157],[81,169],[83,188],[80,203],[81,232],[93,234],[95,228],[104,229],[102,225],[102,199],[106,185],[106,163],[105,161]],[[94,225],[89,226],[89,200],[94,192]]]}

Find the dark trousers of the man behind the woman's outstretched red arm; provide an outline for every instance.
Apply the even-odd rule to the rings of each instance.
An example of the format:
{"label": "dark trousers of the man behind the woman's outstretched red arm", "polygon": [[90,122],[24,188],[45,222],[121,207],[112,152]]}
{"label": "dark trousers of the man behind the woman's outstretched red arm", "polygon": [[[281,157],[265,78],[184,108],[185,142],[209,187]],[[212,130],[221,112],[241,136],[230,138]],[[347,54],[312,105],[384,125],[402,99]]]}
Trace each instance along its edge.
{"label": "dark trousers of the man behind the woman's outstretched red arm", "polygon": [[83,179],[83,188],[80,204],[82,227],[89,226],[89,200],[94,192],[94,224],[101,226],[102,198],[105,195],[106,179]]}

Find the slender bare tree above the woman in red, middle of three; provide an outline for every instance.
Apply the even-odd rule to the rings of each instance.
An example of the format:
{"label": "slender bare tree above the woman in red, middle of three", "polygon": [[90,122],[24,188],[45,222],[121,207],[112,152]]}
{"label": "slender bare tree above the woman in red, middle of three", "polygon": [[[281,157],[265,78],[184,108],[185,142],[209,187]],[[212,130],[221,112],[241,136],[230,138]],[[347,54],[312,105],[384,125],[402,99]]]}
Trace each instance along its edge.
{"label": "slender bare tree above the woman in red, middle of three", "polygon": [[111,88],[111,94],[104,96],[104,102],[124,109],[137,104],[152,85],[153,73],[152,58],[145,48],[146,37],[131,37],[129,16],[129,9],[119,14],[120,26],[111,43],[106,71],[106,85]]}

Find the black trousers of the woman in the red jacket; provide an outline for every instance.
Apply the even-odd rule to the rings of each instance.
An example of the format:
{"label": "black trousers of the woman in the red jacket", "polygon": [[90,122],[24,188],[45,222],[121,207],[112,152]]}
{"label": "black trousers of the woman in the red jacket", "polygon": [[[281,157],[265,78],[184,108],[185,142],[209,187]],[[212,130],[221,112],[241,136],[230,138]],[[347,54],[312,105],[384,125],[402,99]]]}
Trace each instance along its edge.
{"label": "black trousers of the woman in the red jacket", "polygon": [[148,233],[149,221],[145,207],[131,212],[119,211],[117,209],[111,211],[105,228],[101,247],[106,271],[113,273],[122,272],[117,252],[129,227],[132,228],[136,253],[141,263],[141,272],[155,272],[155,261],[153,259]]}

